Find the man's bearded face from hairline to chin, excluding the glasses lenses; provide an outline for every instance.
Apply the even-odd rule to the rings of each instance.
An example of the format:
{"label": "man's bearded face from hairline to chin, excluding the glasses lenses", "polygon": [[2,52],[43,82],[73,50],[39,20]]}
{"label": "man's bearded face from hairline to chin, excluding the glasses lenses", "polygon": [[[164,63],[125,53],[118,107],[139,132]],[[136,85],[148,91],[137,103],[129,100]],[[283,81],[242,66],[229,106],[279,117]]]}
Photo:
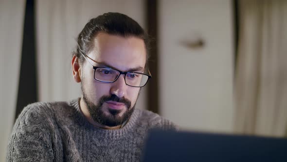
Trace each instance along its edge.
{"label": "man's bearded face from hairline to chin, excluding the glasses lenses", "polygon": [[[143,40],[99,33],[94,46],[87,54],[94,66],[144,72],[146,51]],[[102,125],[121,125],[132,114],[140,88],[126,85],[123,74],[113,83],[96,81],[93,75],[94,69],[85,61],[81,69],[81,88],[90,117]]]}

